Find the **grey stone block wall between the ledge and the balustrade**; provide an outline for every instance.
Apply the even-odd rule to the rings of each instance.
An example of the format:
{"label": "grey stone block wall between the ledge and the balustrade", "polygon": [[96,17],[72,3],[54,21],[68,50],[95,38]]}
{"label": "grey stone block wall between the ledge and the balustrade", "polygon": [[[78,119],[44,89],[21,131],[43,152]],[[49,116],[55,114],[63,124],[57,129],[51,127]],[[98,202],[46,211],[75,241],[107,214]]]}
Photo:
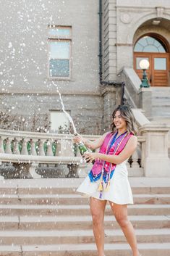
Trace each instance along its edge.
{"label": "grey stone block wall between the ledge and the balustrade", "polygon": [[[62,95],[65,110],[71,113],[78,133],[101,134],[103,100],[99,95]],[[61,111],[59,95],[1,94],[1,111],[13,118],[11,129],[35,131],[49,126],[50,111]],[[48,130],[48,128],[47,128]]]}

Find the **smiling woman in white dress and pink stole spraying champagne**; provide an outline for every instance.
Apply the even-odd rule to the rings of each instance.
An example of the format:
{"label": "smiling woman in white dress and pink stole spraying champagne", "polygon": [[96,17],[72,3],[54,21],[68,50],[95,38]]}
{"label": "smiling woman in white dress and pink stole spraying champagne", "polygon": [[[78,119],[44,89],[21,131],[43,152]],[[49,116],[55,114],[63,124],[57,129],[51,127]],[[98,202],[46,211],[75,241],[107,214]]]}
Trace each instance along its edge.
{"label": "smiling woman in white dress and pink stole spraying champagne", "polygon": [[107,201],[132,248],[133,256],[141,256],[135,231],[127,218],[127,205],[132,204],[133,199],[126,162],[137,147],[135,117],[129,107],[122,105],[114,110],[112,117],[112,131],[99,139],[87,141],[82,136],[75,136],[74,141],[77,143],[82,141],[90,149],[100,148],[99,152],[84,154],[87,162],[95,160],[95,163],[77,191],[90,197],[98,256],[104,256],[103,219]]}

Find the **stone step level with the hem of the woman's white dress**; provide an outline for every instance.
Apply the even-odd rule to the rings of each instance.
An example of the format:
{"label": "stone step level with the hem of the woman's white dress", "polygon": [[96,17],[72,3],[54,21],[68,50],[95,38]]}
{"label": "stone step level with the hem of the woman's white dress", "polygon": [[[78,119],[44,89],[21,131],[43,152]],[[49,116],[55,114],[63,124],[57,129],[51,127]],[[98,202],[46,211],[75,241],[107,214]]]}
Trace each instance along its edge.
{"label": "stone step level with the hem of the woman's white dress", "polygon": [[[134,194],[135,204],[170,204],[170,194]],[[80,194],[5,194],[0,205],[85,205],[88,198]]]}

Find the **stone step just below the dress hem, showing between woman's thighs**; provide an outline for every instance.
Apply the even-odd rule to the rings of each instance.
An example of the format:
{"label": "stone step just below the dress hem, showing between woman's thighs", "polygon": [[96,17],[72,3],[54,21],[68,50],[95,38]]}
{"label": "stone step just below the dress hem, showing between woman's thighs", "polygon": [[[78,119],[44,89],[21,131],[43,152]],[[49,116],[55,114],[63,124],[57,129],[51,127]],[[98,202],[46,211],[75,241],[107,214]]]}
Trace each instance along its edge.
{"label": "stone step just below the dress hem, showing between woman's thighs", "polygon": [[[0,205],[1,216],[7,215],[88,215],[89,205]],[[106,215],[113,215],[106,205]],[[129,205],[128,215],[170,215],[170,205]]]}

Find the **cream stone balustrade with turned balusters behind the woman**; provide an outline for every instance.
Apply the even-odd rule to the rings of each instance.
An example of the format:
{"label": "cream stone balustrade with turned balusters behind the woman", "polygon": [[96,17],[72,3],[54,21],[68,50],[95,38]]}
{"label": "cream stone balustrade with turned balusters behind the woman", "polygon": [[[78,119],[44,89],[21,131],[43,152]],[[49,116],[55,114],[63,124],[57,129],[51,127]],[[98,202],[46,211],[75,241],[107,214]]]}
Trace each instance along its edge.
{"label": "cream stone balustrade with turned balusters behind the woman", "polygon": [[[95,140],[99,136],[85,135],[86,139]],[[0,129],[0,163],[9,163],[10,168],[20,166],[20,172],[27,178],[40,178],[37,173],[39,165],[48,170],[48,166],[66,165],[68,176],[84,177],[90,165],[83,162],[77,146],[73,144],[71,134],[38,133],[27,131],[9,131]],[[145,139],[138,137],[136,152],[129,161],[129,176],[143,176],[143,148]],[[46,167],[46,165],[48,165]],[[45,167],[44,167],[45,166]],[[7,168],[8,169],[8,168]],[[36,171],[35,171],[36,170]],[[24,176],[24,175],[23,175]]]}

